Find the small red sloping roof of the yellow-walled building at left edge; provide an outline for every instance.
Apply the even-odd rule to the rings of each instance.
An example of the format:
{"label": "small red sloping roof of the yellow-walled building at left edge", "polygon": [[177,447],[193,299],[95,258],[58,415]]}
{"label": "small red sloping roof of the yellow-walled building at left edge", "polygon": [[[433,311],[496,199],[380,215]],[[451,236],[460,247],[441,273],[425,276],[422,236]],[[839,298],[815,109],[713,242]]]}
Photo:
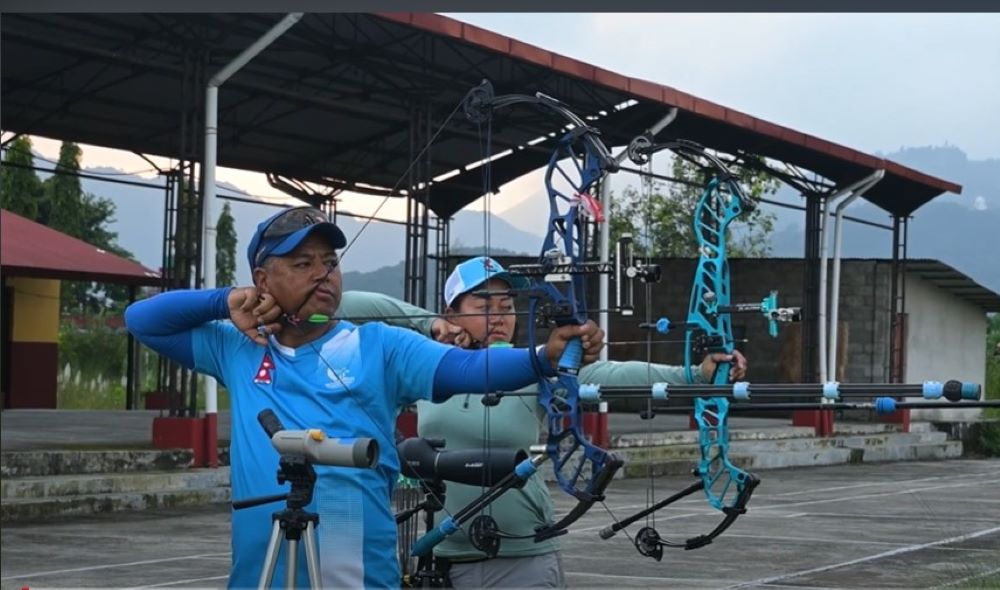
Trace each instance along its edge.
{"label": "small red sloping roof of the yellow-walled building at left edge", "polygon": [[8,276],[158,285],[160,274],[0,209],[0,266]]}

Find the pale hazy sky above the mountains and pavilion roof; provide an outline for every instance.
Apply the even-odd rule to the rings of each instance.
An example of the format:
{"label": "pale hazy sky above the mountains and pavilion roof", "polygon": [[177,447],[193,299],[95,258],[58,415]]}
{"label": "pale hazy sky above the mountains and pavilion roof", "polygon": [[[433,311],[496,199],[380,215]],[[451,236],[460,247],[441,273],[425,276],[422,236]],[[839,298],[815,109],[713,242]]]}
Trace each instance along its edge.
{"label": "pale hazy sky above the mountains and pavilion roof", "polygon": [[[628,76],[855,149],[955,145],[1000,157],[1000,14],[459,14],[450,15]],[[58,143],[36,141],[55,159]],[[84,148],[84,166],[149,168]],[[221,170],[260,195],[261,175]],[[525,178],[502,212],[537,186]],[[378,199],[348,198],[369,212]],[[401,214],[395,203],[382,214]]]}

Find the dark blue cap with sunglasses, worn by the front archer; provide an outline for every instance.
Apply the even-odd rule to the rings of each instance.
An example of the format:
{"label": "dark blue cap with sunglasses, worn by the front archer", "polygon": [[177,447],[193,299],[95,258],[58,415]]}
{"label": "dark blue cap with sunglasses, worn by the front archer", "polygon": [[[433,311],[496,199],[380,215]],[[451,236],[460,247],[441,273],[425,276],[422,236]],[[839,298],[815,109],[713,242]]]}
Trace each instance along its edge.
{"label": "dark blue cap with sunglasses, worn by the front archer", "polygon": [[335,249],[347,245],[344,232],[315,207],[294,207],[268,217],[257,225],[247,247],[251,270],[270,256],[285,256],[313,234],[325,238]]}

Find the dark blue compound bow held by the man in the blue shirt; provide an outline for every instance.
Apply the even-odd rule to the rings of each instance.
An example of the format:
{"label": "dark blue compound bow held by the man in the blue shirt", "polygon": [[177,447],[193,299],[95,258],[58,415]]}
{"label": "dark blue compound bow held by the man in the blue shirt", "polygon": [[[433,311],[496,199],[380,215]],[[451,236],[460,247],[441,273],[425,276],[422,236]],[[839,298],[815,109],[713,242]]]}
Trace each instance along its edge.
{"label": "dark blue compound bow held by the man in the blue shirt", "polygon": [[[528,344],[535,347],[539,325],[584,324],[588,311],[585,276],[610,273],[614,268],[610,264],[587,262],[585,256],[587,218],[603,221],[600,205],[589,191],[609,171],[616,169],[617,163],[601,142],[597,129],[587,125],[560,101],[544,94],[497,96],[492,85],[483,82],[469,92],[464,109],[472,122],[483,125],[491,123],[495,111],[517,104],[536,106],[563,117],[568,123],[568,130],[556,142],[545,173],[550,213],[541,253],[533,264],[508,267],[511,274],[530,279],[531,285],[524,292],[530,298]],[[489,156],[487,154],[488,161]],[[492,187],[484,189],[489,192]],[[569,342],[556,371],[543,366],[537,356],[533,357],[538,374],[538,403],[545,411],[548,427],[545,456],[552,461],[559,487],[577,500],[563,517],[535,531],[536,542],[564,534],[596,502],[603,500],[605,489],[623,464],[618,456],[594,445],[583,433],[577,381],[582,360],[583,348],[579,339]],[[500,397],[485,395],[483,403],[499,403]],[[538,463],[536,460],[534,466]],[[526,476],[533,472],[534,469],[527,466],[522,470]],[[488,504],[484,500],[492,501],[502,493],[497,492],[494,488],[486,490],[456,513],[456,517],[439,525],[428,535],[427,542],[418,542],[415,551],[417,548],[429,551],[444,536],[457,531],[462,522]],[[473,544],[488,554],[495,554],[498,538],[517,538],[501,533],[492,517],[486,514],[477,516],[471,528]]]}

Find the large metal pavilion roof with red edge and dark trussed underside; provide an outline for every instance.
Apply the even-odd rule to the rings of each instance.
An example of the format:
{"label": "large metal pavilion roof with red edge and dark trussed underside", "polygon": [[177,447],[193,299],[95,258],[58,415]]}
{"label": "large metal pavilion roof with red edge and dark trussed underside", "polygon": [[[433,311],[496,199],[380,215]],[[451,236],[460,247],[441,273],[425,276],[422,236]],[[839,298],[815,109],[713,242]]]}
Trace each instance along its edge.
{"label": "large metal pavilion roof with red edge and dark trussed underside", "polygon": [[[0,125],[180,158],[183,111],[192,108],[192,96],[200,103],[204,93],[203,83],[184,81],[207,79],[280,18],[5,14]],[[664,137],[767,156],[838,186],[885,168],[885,178],[865,198],[897,215],[943,192],[961,192],[957,184],[669,86],[423,13],[307,14],[222,87],[218,162],[384,192],[403,177],[417,151],[411,145],[411,115],[429,111],[427,137],[483,79],[498,93],[543,92],[581,116],[595,117],[609,145],[626,144],[677,107],[679,116]],[[498,114],[493,153],[515,151],[494,162],[495,184],[543,166],[552,140],[528,142],[563,124],[530,108]],[[195,132],[200,137],[201,131]],[[481,172],[470,166],[482,158],[480,145],[477,130],[461,113],[437,136],[429,177],[461,170],[433,186],[430,205],[438,215],[451,216],[482,195]]]}

